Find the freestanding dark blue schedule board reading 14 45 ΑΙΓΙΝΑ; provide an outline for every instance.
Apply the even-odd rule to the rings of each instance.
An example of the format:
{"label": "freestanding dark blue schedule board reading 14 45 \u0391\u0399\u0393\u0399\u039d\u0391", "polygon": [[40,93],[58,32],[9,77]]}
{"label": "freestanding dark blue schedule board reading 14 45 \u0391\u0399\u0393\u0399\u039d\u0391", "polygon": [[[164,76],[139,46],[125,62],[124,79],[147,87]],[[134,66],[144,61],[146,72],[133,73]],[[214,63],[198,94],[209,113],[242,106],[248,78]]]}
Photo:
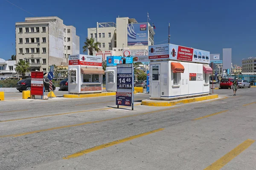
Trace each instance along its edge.
{"label": "freestanding dark blue schedule board reading 14 45 \u0391\u0399\u0393\u0399\u039d\u0391", "polygon": [[116,105],[131,106],[134,110],[134,68],[133,64],[118,64],[116,82]]}

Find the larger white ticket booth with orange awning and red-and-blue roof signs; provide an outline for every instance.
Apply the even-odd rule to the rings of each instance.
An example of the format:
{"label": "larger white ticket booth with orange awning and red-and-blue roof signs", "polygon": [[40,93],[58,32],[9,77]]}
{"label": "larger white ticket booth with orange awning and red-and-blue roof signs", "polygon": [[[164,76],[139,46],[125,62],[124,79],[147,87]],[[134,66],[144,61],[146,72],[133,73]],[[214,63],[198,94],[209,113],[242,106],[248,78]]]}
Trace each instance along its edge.
{"label": "larger white ticket booth with orange awning and red-and-blue roof signs", "polygon": [[209,74],[212,73],[209,54],[208,51],[172,44],[149,46],[150,99],[208,95]]}

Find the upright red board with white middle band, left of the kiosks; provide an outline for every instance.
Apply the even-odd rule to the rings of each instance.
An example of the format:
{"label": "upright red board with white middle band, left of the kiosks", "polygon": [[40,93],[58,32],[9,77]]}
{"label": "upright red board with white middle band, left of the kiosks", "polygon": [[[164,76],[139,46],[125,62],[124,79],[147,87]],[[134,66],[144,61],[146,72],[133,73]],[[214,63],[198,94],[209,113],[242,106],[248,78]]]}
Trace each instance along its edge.
{"label": "upright red board with white middle band, left of the kiosks", "polygon": [[44,72],[31,71],[31,95],[44,95]]}

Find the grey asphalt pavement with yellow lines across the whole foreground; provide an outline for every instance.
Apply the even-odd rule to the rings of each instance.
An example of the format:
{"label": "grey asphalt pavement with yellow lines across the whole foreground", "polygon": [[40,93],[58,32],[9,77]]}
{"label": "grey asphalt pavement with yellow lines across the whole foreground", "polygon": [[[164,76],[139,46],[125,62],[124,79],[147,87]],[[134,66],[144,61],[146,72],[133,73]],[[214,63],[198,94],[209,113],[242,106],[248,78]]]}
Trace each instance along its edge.
{"label": "grey asphalt pavement with yellow lines across the whole foreground", "polygon": [[134,111],[117,109],[114,96],[8,94],[0,101],[0,170],[255,170],[256,88],[214,93],[218,99],[173,107],[140,105],[148,94],[136,94]]}

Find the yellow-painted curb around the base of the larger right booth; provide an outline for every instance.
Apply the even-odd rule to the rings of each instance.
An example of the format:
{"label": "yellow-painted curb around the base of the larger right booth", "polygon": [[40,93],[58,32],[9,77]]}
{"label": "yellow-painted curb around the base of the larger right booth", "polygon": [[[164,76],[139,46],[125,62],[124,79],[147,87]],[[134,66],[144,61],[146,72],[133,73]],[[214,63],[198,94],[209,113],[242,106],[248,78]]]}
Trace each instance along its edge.
{"label": "yellow-painted curb around the base of the larger right booth", "polygon": [[186,104],[192,102],[199,102],[203,100],[216,99],[218,98],[218,94],[208,95],[208,96],[200,96],[200,97],[192,97],[187,99],[177,99],[173,101],[163,101],[163,100],[143,100],[141,105],[146,106],[174,106],[177,104]]}

